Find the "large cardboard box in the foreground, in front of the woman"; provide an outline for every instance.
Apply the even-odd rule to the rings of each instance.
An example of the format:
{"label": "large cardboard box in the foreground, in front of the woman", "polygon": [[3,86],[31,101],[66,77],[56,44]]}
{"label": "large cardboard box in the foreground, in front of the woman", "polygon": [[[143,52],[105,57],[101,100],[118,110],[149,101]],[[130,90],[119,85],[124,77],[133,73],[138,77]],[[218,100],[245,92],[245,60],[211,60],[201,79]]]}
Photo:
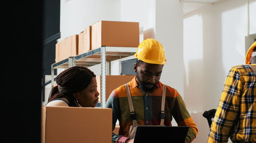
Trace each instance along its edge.
{"label": "large cardboard box in the foreground, in front of the woman", "polygon": [[41,143],[111,143],[111,108],[42,106],[41,109]]}

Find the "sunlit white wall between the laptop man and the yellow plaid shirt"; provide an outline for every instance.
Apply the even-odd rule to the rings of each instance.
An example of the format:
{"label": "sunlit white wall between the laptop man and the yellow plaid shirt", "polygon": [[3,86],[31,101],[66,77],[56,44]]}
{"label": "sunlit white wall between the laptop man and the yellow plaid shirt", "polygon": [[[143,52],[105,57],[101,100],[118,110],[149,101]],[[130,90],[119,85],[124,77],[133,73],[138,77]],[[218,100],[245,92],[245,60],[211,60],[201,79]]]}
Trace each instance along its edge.
{"label": "sunlit white wall between the laptop man and the yellow plaid shirt", "polygon": [[[206,142],[209,127],[202,114],[217,108],[229,69],[245,64],[246,2],[229,0],[184,15],[184,100],[199,129],[193,142]],[[250,1],[250,17],[255,2]],[[256,22],[250,22],[252,34]]]}

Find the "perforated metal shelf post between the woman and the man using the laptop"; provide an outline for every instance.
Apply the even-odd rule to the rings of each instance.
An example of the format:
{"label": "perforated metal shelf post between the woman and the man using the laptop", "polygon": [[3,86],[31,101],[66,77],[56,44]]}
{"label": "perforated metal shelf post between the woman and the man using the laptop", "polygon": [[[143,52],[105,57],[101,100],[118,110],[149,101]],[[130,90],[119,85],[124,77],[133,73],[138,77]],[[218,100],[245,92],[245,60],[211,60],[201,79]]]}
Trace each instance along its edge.
{"label": "perforated metal shelf post between the woman and the man using the laptop", "polygon": [[101,47],[101,107],[105,108],[106,102],[106,47]]}

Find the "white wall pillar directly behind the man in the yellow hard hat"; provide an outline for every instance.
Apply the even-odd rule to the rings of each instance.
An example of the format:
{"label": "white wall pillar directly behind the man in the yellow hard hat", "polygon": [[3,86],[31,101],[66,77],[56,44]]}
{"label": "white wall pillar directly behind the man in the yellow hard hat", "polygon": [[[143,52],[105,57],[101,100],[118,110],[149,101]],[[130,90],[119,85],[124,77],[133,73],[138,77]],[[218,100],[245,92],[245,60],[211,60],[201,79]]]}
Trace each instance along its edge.
{"label": "white wall pillar directly behind the man in the yellow hard hat", "polygon": [[163,45],[167,63],[161,81],[183,95],[183,4],[156,1],[156,39]]}

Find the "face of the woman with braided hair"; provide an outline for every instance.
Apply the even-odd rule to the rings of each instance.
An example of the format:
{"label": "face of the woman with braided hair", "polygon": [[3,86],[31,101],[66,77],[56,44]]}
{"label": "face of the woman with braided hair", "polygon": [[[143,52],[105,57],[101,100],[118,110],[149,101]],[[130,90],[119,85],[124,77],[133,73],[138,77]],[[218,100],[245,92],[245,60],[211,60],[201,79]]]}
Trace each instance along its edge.
{"label": "face of the woman with braided hair", "polygon": [[83,107],[95,107],[99,102],[99,92],[97,90],[96,78],[93,77],[88,87],[76,93],[78,103]]}

